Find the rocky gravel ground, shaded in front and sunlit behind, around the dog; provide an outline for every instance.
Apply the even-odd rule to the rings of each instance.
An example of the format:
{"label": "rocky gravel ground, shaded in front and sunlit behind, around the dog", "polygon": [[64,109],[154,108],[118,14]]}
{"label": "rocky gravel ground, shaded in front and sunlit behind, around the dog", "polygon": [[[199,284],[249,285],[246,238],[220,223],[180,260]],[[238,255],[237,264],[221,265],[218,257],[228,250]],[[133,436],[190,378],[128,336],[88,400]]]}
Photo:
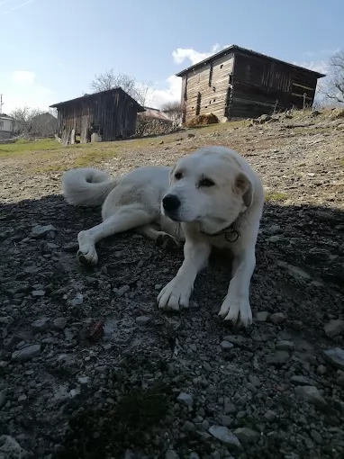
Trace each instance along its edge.
{"label": "rocky gravel ground, shaded in front and sunlit behind, around the dog", "polygon": [[343,140],[343,118],[296,113],[122,142],[100,165],[172,164],[206,144],[248,157],[267,204],[240,332],[217,315],[224,257],[188,311],[159,311],[182,250],[128,233],[78,266],[77,232],[100,210],[63,201],[60,167],[30,172],[42,153],[0,157],[0,458],[344,457]]}

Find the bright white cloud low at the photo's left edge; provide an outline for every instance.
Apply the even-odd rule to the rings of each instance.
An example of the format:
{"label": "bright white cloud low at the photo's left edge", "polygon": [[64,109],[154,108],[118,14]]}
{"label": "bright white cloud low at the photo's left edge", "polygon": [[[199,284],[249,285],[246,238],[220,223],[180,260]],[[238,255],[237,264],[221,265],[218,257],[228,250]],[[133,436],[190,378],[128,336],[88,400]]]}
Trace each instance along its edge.
{"label": "bright white cloud low at the photo's left edge", "polygon": [[48,110],[56,102],[56,94],[42,85],[31,70],[15,70],[11,74],[0,74],[0,87],[4,94],[3,111],[12,112],[24,105]]}

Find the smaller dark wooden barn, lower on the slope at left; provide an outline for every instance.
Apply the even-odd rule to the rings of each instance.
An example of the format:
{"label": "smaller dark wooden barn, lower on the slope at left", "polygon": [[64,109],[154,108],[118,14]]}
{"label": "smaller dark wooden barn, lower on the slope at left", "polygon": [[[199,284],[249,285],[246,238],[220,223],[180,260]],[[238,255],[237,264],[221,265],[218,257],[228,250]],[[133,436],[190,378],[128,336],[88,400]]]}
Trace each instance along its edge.
{"label": "smaller dark wooden barn, lower on the slope at left", "polygon": [[93,133],[102,141],[128,139],[135,134],[138,112],[144,112],[121,87],[55,103],[51,108],[58,110],[57,135],[64,145],[90,142]]}

